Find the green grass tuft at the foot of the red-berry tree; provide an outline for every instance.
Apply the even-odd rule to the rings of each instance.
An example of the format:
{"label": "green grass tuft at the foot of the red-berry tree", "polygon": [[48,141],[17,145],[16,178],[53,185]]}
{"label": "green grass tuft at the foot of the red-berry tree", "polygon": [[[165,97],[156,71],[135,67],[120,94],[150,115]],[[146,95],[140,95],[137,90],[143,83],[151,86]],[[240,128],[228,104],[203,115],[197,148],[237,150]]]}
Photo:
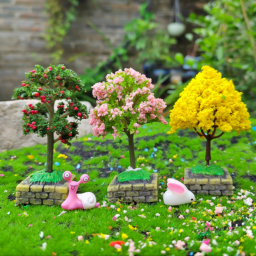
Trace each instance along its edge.
{"label": "green grass tuft at the foot of the red-berry tree", "polygon": [[37,181],[41,181],[41,182],[58,182],[60,180],[62,180],[62,171],[57,171],[55,169],[53,169],[53,172],[49,173],[46,172],[46,169],[34,172],[30,175],[29,181],[30,182],[37,182]]}

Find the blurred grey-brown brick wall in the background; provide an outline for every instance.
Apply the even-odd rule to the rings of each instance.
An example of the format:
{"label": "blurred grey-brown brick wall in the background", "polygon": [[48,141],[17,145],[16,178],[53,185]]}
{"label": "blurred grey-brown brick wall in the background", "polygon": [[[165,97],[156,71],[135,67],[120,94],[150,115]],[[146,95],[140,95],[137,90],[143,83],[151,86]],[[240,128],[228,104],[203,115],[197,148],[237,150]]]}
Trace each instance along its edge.
{"label": "blurred grey-brown brick wall in the background", "polygon": [[[80,1],[77,18],[64,38],[65,53],[61,60],[67,68],[79,75],[86,67],[95,67],[108,59],[111,53],[108,44],[88,24],[91,21],[118,46],[124,36],[124,25],[140,17],[139,9],[144,0],[94,0]],[[182,13],[202,12],[207,0],[180,0]],[[166,27],[172,0],[151,1],[156,20]],[[12,91],[20,86],[24,73],[35,64],[49,65],[49,52],[45,49],[44,33],[47,14],[45,0],[1,0],[0,1],[0,101],[10,100]],[[68,62],[69,58],[78,57]]]}

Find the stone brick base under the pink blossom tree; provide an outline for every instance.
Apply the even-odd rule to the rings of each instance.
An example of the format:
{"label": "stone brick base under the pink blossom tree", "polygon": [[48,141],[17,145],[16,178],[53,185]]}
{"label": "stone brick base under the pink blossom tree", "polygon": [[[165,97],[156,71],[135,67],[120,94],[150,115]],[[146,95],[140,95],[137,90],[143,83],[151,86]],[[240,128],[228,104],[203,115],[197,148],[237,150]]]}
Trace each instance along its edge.
{"label": "stone brick base under the pink blossom tree", "polygon": [[108,186],[108,202],[156,202],[158,200],[158,174],[152,173],[151,182],[118,184],[117,175]]}

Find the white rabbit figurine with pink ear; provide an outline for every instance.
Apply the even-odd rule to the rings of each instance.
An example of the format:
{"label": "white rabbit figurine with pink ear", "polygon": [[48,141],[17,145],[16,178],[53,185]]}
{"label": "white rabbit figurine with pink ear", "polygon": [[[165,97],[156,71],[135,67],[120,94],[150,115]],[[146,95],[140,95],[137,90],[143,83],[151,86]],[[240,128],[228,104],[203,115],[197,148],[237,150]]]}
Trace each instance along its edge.
{"label": "white rabbit figurine with pink ear", "polygon": [[164,204],[178,205],[195,201],[194,194],[179,180],[167,179],[167,187],[164,193]]}

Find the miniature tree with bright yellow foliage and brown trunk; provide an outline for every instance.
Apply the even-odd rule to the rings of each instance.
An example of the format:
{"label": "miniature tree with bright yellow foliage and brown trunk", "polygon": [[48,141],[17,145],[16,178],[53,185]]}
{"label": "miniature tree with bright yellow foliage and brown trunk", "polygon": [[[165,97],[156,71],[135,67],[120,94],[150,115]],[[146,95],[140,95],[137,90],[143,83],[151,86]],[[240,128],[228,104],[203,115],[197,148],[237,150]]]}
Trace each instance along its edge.
{"label": "miniature tree with bright yellow foliage and brown trunk", "polygon": [[[241,101],[242,92],[235,90],[232,80],[222,78],[221,73],[203,66],[180,93],[180,98],[170,110],[169,134],[177,129],[194,129],[206,139],[205,161],[211,160],[211,140],[224,132],[248,131],[251,122],[246,105]],[[220,133],[217,135],[217,128]]]}

